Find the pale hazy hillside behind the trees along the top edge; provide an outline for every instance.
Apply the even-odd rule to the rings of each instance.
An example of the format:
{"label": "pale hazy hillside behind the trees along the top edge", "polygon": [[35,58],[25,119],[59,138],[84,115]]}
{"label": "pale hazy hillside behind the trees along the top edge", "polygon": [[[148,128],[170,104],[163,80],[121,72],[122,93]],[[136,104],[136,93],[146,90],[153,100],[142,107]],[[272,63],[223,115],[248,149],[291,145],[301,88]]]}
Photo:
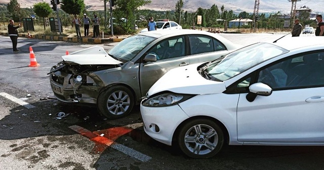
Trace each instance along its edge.
{"label": "pale hazy hillside behind the trees along the top edge", "polygon": [[[0,4],[8,4],[9,2],[10,0],[0,0]],[[42,0],[18,0],[18,3],[22,8],[30,8],[34,3],[38,2],[42,2]],[[50,4],[50,0],[45,0],[45,2],[48,2]],[[151,0],[151,2],[151,4],[142,7],[141,9],[151,9],[158,11],[174,10],[178,0]],[[213,4],[215,4],[219,9],[222,5],[224,5],[225,9],[233,10],[237,13],[242,11],[253,13],[255,0],[183,0],[183,2],[184,11],[196,11],[199,7],[209,9]],[[88,10],[104,9],[103,1],[85,0],[85,4],[88,7]],[[302,0],[300,2],[297,2],[296,8],[306,6],[312,9],[313,12],[322,12],[324,11],[322,4],[323,1],[314,2]],[[278,11],[282,13],[290,13],[291,7],[292,3],[288,2],[288,0],[260,0],[259,13]]]}

